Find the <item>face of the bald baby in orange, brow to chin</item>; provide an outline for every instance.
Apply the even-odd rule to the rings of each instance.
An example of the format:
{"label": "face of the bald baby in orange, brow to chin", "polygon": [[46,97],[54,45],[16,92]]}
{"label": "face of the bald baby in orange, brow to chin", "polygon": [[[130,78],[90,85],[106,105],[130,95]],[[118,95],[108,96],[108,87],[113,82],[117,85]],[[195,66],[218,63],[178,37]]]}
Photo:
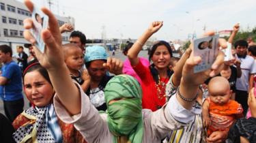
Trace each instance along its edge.
{"label": "face of the bald baby in orange, brow to chin", "polygon": [[230,99],[230,90],[227,90],[225,92],[220,92],[219,90],[216,90],[216,92],[210,93],[210,99],[214,102],[214,104],[218,105],[224,105],[227,104],[227,102]]}

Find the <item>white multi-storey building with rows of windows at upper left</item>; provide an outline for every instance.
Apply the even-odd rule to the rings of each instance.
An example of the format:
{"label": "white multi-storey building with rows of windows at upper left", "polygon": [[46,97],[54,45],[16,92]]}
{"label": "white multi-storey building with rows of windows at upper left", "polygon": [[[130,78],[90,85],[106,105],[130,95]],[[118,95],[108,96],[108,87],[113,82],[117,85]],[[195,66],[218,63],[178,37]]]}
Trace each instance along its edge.
{"label": "white multi-storey building with rows of windows at upper left", "polygon": [[[28,43],[23,37],[23,20],[31,17],[31,13],[24,3],[16,0],[0,0],[0,45],[7,44],[16,54],[16,48]],[[74,18],[56,16],[59,25],[68,22],[74,25]],[[63,43],[68,42],[70,33],[63,33]],[[27,48],[25,48],[27,52]],[[28,52],[27,52],[28,53]]]}

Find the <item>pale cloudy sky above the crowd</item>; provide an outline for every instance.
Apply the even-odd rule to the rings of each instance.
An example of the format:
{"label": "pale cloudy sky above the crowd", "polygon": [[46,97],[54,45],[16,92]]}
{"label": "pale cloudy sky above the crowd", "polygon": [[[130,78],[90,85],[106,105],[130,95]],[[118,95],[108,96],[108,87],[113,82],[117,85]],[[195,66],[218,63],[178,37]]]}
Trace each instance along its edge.
{"label": "pale cloudy sky above the crowd", "polygon": [[[48,0],[45,0],[48,1]],[[155,20],[162,28],[152,39],[186,39],[206,31],[231,30],[240,22],[241,30],[256,27],[255,0],[51,0],[52,10],[72,16],[75,29],[88,39],[137,39]]]}

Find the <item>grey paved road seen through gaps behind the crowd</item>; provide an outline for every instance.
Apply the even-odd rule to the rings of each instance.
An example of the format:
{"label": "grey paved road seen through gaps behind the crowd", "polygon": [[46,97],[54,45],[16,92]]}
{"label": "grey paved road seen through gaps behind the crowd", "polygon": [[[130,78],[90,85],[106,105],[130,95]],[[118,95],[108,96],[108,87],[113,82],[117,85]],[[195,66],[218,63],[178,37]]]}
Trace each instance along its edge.
{"label": "grey paved road seen through gaps behind the crowd", "polygon": [[[109,52],[109,55],[111,56],[111,51]],[[148,56],[147,56],[147,51],[145,51],[145,50],[142,50],[140,53],[139,53],[139,56],[140,57],[145,57],[145,58],[148,58]],[[126,57],[124,56],[124,54],[122,54],[122,52],[121,51],[119,51],[119,50],[117,50],[116,52],[115,52],[115,56],[114,56],[115,58],[118,58],[118,59],[121,59],[122,61],[124,61],[125,59],[126,59]],[[25,107],[24,107],[24,109],[27,109],[27,108],[29,108],[29,101],[27,100],[27,97],[25,96],[25,94],[23,94],[24,95],[24,100],[25,100]],[[0,112],[2,113],[2,114],[4,114],[4,110],[3,110],[3,101],[0,99]]]}

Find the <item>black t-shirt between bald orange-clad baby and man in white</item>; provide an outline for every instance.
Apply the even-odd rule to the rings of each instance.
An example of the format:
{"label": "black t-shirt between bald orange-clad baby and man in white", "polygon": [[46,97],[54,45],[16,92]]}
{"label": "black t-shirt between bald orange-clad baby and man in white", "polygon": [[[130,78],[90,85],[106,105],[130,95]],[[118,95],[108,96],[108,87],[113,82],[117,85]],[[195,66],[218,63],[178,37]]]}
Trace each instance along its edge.
{"label": "black t-shirt between bald orange-clad baby and man in white", "polygon": [[[236,78],[238,77],[238,72],[236,70],[236,67],[234,67],[233,65],[231,65],[230,68],[231,68],[231,76],[228,79],[229,80],[229,85],[230,85],[230,89],[233,92],[236,92]],[[218,74],[216,76],[221,76],[221,74]],[[208,84],[211,79],[212,78],[208,78],[208,80],[205,81],[205,84]]]}

